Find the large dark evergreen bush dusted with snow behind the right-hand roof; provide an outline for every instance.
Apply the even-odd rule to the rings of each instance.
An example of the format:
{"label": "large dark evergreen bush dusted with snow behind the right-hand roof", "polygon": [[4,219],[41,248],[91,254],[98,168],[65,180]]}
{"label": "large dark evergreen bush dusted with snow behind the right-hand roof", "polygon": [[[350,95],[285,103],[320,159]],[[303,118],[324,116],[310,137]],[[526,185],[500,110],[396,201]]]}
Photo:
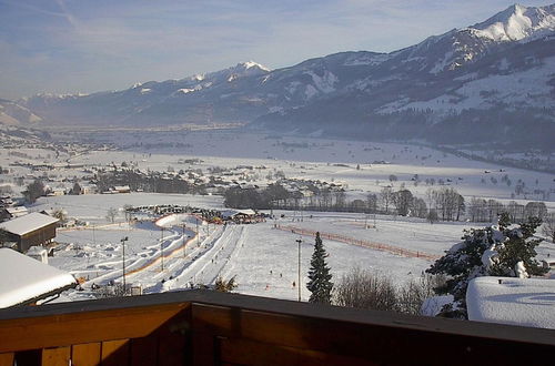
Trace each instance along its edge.
{"label": "large dark evergreen bush dusted with snow behind the right-hand roof", "polygon": [[463,242],[455,244],[426,270],[431,274],[447,276],[445,285],[436,288],[437,294],[454,297],[453,304],[443,307],[444,315],[466,318],[466,287],[475,277],[544,274],[547,270],[535,260],[535,247],[542,240],[533,238],[539,225],[536,217],[511,225],[508,215],[502,214],[496,226],[465,231]]}

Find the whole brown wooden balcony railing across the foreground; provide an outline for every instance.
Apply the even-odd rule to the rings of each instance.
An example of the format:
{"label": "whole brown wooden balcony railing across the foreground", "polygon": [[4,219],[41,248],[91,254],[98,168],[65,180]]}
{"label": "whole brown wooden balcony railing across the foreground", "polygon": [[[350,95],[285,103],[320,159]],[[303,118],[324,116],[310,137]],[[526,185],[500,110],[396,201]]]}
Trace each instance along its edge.
{"label": "whole brown wooden balcony railing across the foreground", "polygon": [[555,331],[208,291],[0,311],[10,365],[548,365]]}

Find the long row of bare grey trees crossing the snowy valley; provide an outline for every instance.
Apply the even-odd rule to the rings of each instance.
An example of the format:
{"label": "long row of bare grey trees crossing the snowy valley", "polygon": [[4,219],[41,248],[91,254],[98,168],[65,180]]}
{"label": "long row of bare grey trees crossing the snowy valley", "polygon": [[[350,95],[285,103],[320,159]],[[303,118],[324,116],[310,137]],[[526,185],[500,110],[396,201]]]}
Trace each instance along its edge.
{"label": "long row of bare grey trees crossing the snowy valley", "polygon": [[[347,201],[344,191],[311,190],[314,194],[304,197],[299,192],[291,193],[280,184],[270,184],[264,190],[232,187],[225,191],[224,204],[238,209],[284,209],[306,211],[347,211],[415,216],[435,221],[460,221],[465,217],[472,222],[494,222],[502,213],[507,213],[512,222],[525,222],[528,217],[547,216],[543,202],[528,202],[526,205],[511,201],[503,204],[496,200],[465,199],[453,187],[428,189],[425,199],[416,197],[402,186],[394,191],[385,186],[377,194],[370,193],[365,200]],[[427,203],[426,203],[427,202]]]}

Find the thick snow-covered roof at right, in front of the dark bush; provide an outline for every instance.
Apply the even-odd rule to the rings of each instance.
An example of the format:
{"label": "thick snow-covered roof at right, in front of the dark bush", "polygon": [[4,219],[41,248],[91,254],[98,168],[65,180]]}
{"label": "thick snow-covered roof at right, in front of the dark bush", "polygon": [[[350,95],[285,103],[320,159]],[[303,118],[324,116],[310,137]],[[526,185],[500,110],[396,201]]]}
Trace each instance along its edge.
{"label": "thick snow-covered roof at right, in front of the dark bush", "polygon": [[471,321],[555,329],[554,279],[477,277],[466,305]]}

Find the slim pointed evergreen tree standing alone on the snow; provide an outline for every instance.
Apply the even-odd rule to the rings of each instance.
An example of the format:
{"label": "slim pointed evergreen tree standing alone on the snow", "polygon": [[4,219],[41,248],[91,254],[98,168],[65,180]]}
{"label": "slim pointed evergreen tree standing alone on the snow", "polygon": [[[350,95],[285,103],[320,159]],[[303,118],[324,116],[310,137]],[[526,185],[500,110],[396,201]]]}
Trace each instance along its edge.
{"label": "slim pointed evergreen tree standing alone on the snow", "polygon": [[306,284],[306,288],[311,292],[309,298],[311,303],[331,304],[333,283],[331,282],[330,267],[325,263],[326,257],[327,253],[322,244],[322,238],[320,238],[320,233],[316,233],[314,253],[312,253],[309,270],[310,282]]}

